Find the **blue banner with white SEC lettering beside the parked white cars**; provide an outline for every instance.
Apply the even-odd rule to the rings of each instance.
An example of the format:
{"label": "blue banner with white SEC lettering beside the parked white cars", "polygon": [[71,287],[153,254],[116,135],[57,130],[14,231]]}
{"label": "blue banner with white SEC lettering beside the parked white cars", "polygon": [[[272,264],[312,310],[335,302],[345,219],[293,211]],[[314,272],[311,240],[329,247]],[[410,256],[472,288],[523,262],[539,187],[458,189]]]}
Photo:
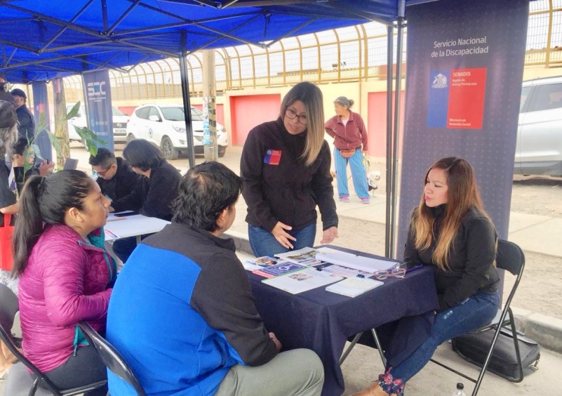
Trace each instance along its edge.
{"label": "blue banner with white SEC lettering beside the parked white cars", "polygon": [[113,112],[112,95],[109,88],[109,71],[95,70],[83,72],[84,95],[86,96],[86,110],[88,114],[88,128],[105,143],[98,143],[98,147],[106,147],[114,151],[113,147]]}

